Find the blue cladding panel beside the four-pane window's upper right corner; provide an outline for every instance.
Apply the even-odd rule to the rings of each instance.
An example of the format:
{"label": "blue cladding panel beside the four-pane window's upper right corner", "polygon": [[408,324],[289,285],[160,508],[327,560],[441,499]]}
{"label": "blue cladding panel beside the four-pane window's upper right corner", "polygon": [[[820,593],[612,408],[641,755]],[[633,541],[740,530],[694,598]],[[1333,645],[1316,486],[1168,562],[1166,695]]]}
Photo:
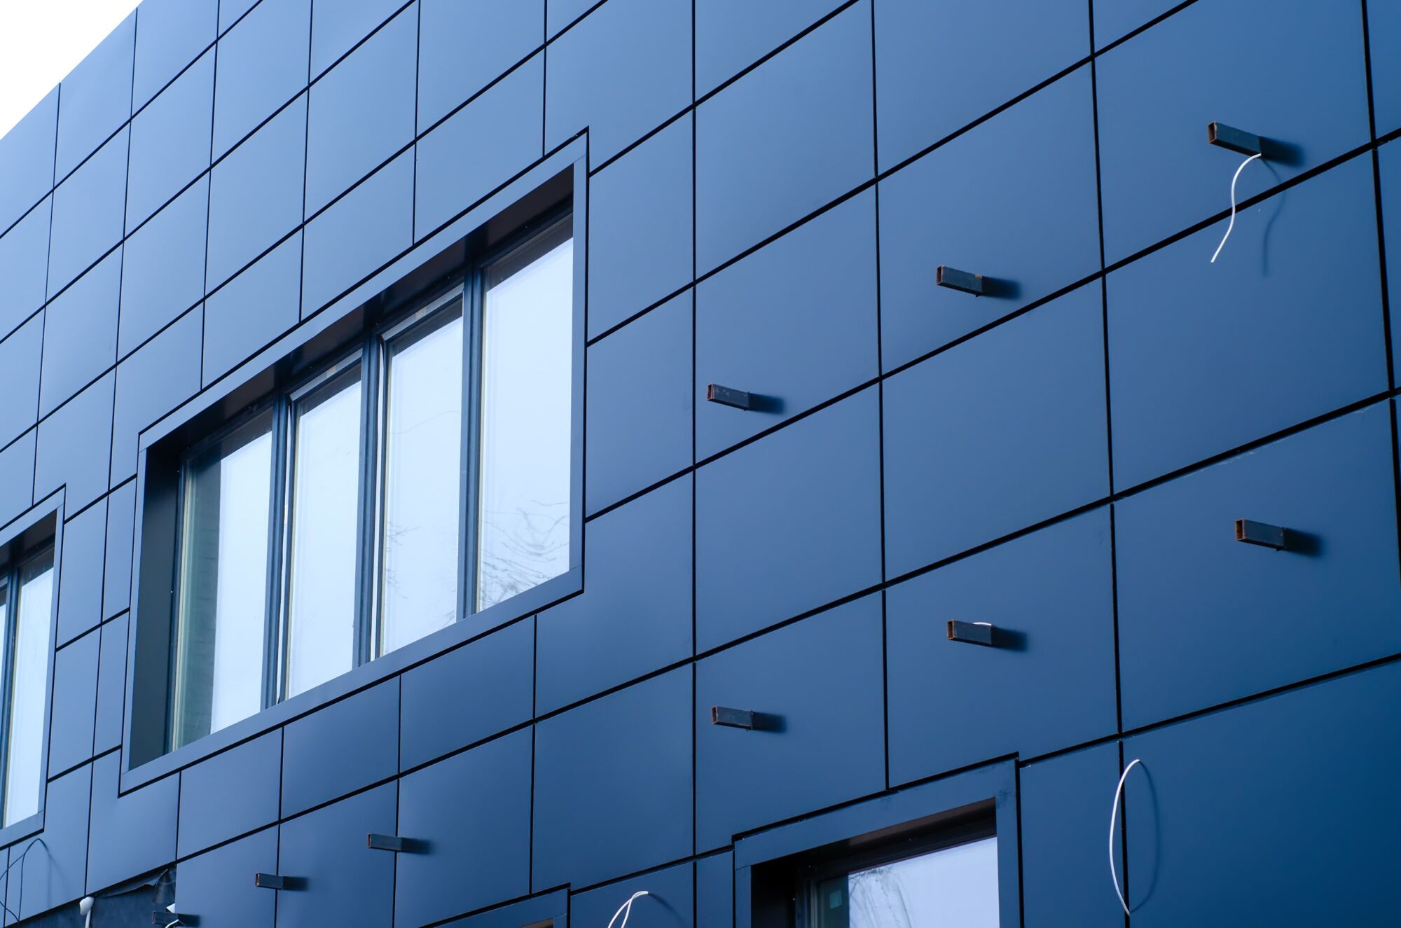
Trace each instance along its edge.
{"label": "blue cladding panel beside the four-pane window's upper right corner", "polygon": [[692,121],[678,119],[588,182],[588,335],[691,280]]}

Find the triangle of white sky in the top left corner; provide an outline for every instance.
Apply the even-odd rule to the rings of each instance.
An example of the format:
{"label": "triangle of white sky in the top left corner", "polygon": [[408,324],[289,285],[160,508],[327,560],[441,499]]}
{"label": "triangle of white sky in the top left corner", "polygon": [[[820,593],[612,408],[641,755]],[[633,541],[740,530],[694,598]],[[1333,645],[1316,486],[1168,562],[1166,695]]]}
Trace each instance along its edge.
{"label": "triangle of white sky in the top left corner", "polygon": [[0,0],[0,136],[120,25],[137,0]]}

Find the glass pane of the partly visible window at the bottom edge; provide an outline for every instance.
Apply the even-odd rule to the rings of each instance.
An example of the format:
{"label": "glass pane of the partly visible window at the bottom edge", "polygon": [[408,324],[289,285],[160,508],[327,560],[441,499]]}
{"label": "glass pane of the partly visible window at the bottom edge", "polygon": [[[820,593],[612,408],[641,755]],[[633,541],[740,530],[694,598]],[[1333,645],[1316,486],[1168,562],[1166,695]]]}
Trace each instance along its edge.
{"label": "glass pane of the partly visible window at the bottom edge", "polygon": [[998,838],[817,885],[817,928],[998,928]]}

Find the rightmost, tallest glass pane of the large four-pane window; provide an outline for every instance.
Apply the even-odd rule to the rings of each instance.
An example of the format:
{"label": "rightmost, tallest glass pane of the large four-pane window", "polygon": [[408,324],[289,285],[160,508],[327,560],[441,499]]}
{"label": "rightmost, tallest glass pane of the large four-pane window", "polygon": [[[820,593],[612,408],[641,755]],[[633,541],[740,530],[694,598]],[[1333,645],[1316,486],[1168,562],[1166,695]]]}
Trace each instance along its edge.
{"label": "rightmost, tallest glass pane of the large four-pane window", "polygon": [[569,569],[573,258],[566,221],[488,273],[479,610]]}

